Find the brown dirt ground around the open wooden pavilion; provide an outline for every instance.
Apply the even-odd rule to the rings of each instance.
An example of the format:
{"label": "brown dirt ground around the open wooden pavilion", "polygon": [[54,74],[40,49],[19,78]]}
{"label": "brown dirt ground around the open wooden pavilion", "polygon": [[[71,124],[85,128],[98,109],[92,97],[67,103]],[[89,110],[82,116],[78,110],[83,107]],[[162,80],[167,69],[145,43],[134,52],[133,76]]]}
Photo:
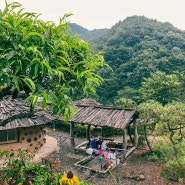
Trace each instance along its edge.
{"label": "brown dirt ground around the open wooden pavilion", "polygon": [[[160,176],[161,164],[146,160],[141,156],[143,149],[136,149],[123,164],[110,170],[110,173],[100,175],[87,170],[74,167],[74,163],[83,159],[81,155],[70,154],[69,134],[64,131],[49,131],[49,135],[57,137],[61,147],[60,173],[69,170],[73,171],[81,180],[94,183],[95,185],[178,185],[179,183],[170,181]],[[84,138],[75,138],[76,144],[84,141]],[[117,183],[116,183],[117,182]]]}

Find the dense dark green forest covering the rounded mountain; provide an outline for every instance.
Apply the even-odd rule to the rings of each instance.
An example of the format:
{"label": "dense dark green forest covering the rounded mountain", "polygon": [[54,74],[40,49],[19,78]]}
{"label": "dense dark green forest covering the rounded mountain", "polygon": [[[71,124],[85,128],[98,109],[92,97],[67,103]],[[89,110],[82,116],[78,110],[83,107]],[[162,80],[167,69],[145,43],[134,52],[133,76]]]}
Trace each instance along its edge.
{"label": "dense dark green forest covering the rounded mountain", "polygon": [[101,32],[82,28],[76,32],[82,38],[90,34],[87,39],[93,49],[103,51],[105,62],[112,68],[100,71],[104,83],[97,88],[96,98],[103,104],[115,104],[123,97],[139,104],[143,100],[142,82],[153,73],[158,72],[164,80],[166,75],[185,70],[185,32],[170,23],[132,16]]}

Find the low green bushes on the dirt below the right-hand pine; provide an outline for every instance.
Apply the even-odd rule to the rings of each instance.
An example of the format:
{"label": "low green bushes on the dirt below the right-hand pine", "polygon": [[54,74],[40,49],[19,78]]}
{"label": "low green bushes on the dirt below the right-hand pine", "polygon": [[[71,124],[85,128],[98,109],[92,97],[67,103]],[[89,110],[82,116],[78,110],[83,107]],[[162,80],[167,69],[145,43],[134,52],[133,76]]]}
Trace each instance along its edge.
{"label": "low green bushes on the dirt below the right-hand pine", "polygon": [[178,143],[178,156],[174,156],[172,143],[167,138],[158,138],[152,143],[153,151],[143,153],[149,160],[163,162],[162,175],[165,177],[185,178],[185,141]]}

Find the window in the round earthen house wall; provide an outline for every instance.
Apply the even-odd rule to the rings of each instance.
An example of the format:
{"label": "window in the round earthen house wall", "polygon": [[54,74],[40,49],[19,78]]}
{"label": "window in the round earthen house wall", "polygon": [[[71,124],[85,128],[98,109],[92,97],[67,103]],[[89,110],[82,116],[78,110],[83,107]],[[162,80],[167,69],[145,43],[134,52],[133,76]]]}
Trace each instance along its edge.
{"label": "window in the round earthen house wall", "polygon": [[17,141],[17,129],[0,130],[0,144]]}

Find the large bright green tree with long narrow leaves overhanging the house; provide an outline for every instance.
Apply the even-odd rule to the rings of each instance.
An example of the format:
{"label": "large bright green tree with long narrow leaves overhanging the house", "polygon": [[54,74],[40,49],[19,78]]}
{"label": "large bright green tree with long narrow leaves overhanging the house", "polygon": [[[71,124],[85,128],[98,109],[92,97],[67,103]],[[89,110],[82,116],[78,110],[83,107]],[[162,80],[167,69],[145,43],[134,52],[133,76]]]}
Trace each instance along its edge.
{"label": "large bright green tree with long narrow leaves overhanging the house", "polygon": [[68,16],[56,25],[24,12],[16,2],[0,10],[0,98],[16,98],[23,91],[32,109],[43,97],[43,108],[50,102],[53,114],[68,118],[74,92],[95,92],[102,82],[97,71],[104,65],[103,56],[67,33]]}

